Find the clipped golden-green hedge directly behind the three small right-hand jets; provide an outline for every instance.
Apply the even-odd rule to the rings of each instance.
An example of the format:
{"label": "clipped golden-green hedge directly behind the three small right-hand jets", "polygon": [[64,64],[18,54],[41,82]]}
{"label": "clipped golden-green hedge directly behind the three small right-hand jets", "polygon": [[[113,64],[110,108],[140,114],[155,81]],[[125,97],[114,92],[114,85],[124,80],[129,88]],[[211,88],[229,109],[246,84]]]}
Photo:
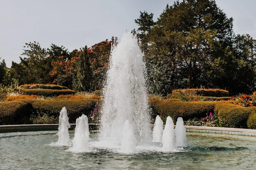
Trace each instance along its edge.
{"label": "clipped golden-green hedge directly behind the three small right-hand jets", "polygon": [[152,111],[152,118],[161,115],[165,122],[167,116],[172,117],[176,122],[178,117],[182,117],[184,121],[191,118],[204,117],[206,113],[210,113],[214,109],[213,102],[171,102],[171,101],[149,101]]}

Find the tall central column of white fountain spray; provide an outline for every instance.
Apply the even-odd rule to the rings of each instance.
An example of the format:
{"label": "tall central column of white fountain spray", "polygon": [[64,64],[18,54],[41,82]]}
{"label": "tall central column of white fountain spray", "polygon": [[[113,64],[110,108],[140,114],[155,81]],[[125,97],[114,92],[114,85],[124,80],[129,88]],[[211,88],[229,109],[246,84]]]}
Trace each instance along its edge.
{"label": "tall central column of white fountain spray", "polygon": [[132,123],[138,142],[150,134],[145,63],[136,37],[124,33],[112,49],[101,116],[101,139],[119,143],[124,122]]}

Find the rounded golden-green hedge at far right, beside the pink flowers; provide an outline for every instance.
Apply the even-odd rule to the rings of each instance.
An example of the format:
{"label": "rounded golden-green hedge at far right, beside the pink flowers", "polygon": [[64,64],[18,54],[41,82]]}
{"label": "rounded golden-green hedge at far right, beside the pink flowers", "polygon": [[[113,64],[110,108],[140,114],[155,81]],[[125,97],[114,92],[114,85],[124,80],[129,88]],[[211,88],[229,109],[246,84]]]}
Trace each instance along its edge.
{"label": "rounded golden-green hedge at far right, beside the pink flowers", "polygon": [[242,107],[231,103],[215,102],[214,113],[226,124],[225,127],[246,128],[249,115],[255,107]]}

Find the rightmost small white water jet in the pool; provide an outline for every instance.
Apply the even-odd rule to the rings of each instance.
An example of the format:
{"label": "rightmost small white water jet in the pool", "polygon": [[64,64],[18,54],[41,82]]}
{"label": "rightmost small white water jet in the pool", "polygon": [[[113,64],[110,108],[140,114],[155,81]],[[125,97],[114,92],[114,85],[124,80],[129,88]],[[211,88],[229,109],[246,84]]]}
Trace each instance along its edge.
{"label": "rightmost small white water jet in the pool", "polygon": [[187,146],[186,128],[183,123],[182,117],[178,117],[175,127],[175,141],[176,147]]}

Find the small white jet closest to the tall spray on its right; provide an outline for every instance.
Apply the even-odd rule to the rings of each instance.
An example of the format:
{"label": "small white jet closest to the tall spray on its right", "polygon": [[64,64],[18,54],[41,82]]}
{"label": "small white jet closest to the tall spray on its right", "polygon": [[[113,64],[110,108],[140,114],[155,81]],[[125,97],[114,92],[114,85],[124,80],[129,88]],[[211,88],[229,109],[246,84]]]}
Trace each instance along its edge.
{"label": "small white jet closest to the tall spray on its right", "polygon": [[164,131],[164,122],[159,115],[156,116],[156,121],[153,128],[153,142],[161,142]]}

